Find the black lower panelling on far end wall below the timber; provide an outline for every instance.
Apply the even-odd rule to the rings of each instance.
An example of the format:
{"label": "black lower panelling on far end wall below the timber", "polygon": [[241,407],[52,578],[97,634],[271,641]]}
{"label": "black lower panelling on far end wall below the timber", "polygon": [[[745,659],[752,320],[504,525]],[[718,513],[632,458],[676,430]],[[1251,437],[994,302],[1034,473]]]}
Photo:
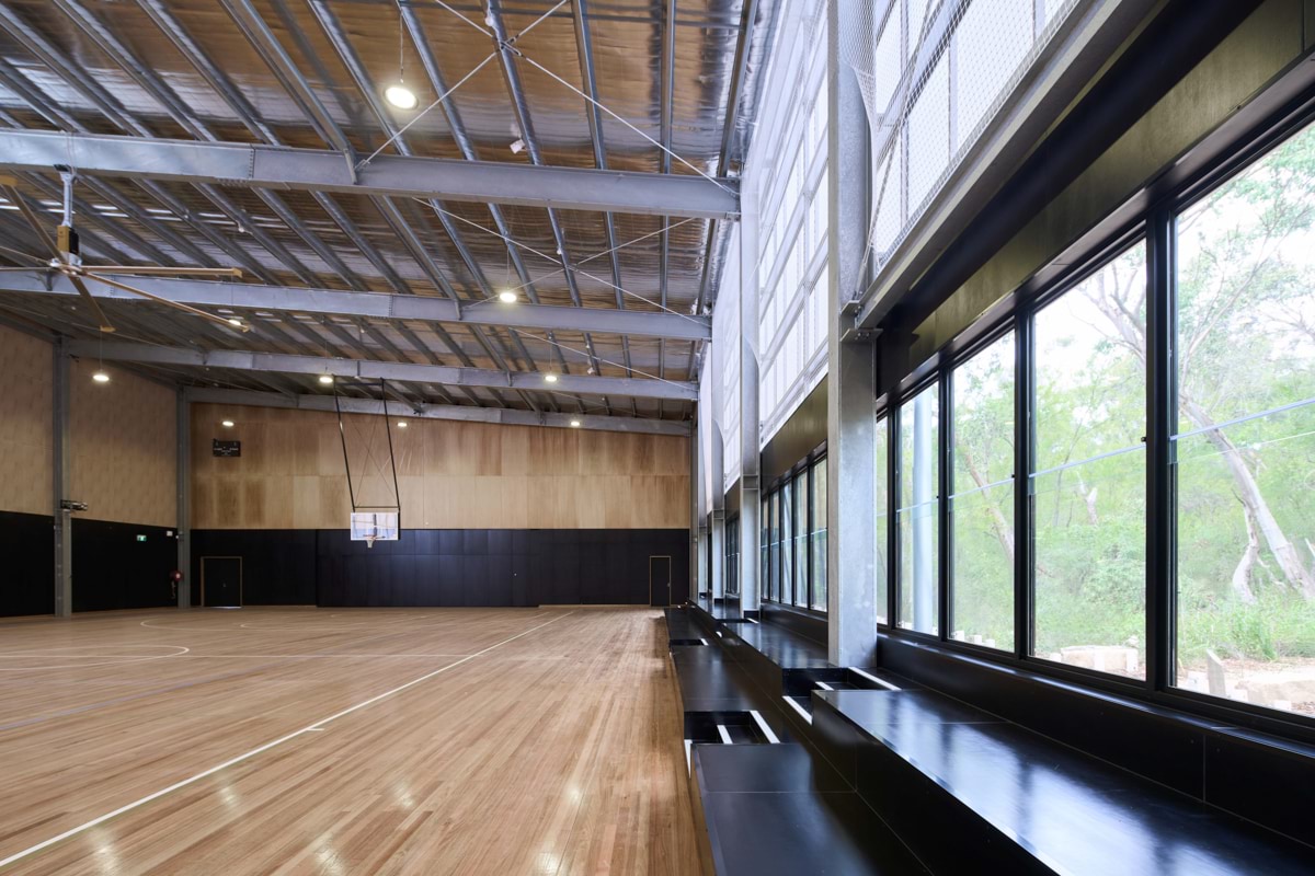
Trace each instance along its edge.
{"label": "black lower panelling on far end wall below the timber", "polygon": [[688,529],[402,529],[373,548],[346,529],[197,529],[193,605],[204,556],[242,557],[249,605],[646,605],[650,557],[689,598]]}

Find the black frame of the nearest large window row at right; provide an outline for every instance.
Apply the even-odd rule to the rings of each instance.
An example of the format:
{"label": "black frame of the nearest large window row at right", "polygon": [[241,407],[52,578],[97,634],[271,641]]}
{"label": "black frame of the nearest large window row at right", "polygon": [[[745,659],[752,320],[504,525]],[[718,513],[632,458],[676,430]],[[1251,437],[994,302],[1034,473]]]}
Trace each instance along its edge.
{"label": "black frame of the nearest large window row at right", "polygon": [[[1277,91],[1277,88],[1276,88]],[[1174,222],[1218,186],[1227,184],[1262,160],[1290,137],[1315,123],[1315,88],[1306,85],[1290,102],[1272,100],[1257,109],[1251,127],[1233,125],[1210,143],[1211,151],[1189,167],[1174,168],[1169,179],[1159,180],[1157,189],[1148,189],[1140,201],[1130,200],[1110,218],[1074,242],[1065,259],[1044,267],[1018,290],[1006,296],[959,336],[951,339],[930,360],[911,369],[888,389],[878,387],[874,419],[886,419],[888,491],[886,491],[886,623],[877,623],[877,640],[930,644],[934,650],[960,654],[985,662],[1005,665],[1030,675],[1053,678],[1086,690],[1116,693],[1151,705],[1166,707],[1207,720],[1227,721],[1236,726],[1274,733],[1286,738],[1315,742],[1315,717],[1287,713],[1262,705],[1226,700],[1208,693],[1174,687],[1173,667],[1177,647],[1177,471],[1173,466],[1172,436],[1176,423],[1178,361],[1177,338],[1177,265]],[[1257,104],[1262,102],[1257,100]],[[1277,112],[1276,112],[1277,110]],[[1272,113],[1268,118],[1260,113]],[[1256,121],[1258,120],[1258,121]],[[1198,155],[1206,152],[1205,148]],[[1032,317],[1047,303],[1069,292],[1139,239],[1147,247],[1147,435],[1145,435],[1145,506],[1147,506],[1147,667],[1145,679],[1128,679],[1077,666],[1053,663],[1031,655],[1032,619],[1032,490],[1031,471],[1035,457],[1035,344]],[[1077,253],[1076,256],[1073,253]],[[942,393],[951,382],[956,365],[963,364],[992,340],[1013,328],[1015,331],[1015,636],[1014,651],[988,649],[972,642],[949,638],[948,625],[942,624],[936,636],[898,626],[899,542],[896,521],[898,490],[898,433],[902,406],[931,381],[940,381]],[[944,397],[944,395],[943,395]],[[952,402],[952,399],[951,399]],[[951,445],[945,423],[953,410],[943,405],[939,457]],[[1026,429],[1026,433],[1023,433]],[[947,487],[942,481],[938,502],[947,510]],[[948,541],[942,531],[942,549]],[[948,607],[949,567],[938,571],[938,598],[942,612]]]}

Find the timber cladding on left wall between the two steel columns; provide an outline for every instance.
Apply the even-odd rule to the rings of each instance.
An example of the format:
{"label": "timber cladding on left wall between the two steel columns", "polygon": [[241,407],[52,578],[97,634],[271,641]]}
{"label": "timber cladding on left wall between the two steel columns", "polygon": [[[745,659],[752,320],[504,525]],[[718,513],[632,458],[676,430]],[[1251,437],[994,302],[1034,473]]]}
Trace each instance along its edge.
{"label": "timber cladding on left wall between the two steel columns", "polygon": [[68,369],[71,499],[88,520],[178,524],[178,395],[121,369],[76,360]]}

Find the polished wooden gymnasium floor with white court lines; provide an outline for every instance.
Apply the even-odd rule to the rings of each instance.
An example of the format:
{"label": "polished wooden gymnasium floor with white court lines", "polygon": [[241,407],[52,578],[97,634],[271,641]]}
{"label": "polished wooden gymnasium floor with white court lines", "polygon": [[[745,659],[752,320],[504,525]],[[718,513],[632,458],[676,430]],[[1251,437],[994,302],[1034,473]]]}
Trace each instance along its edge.
{"label": "polished wooden gymnasium floor with white court lines", "polygon": [[698,872],[656,609],[0,624],[0,872]]}

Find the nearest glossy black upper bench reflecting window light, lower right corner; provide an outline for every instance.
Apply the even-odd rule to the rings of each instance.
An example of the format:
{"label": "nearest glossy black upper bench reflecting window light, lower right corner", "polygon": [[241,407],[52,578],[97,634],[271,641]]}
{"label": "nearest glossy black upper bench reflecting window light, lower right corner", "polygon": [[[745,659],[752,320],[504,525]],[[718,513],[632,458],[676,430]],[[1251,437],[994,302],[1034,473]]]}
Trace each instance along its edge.
{"label": "nearest glossy black upper bench reflecting window light, lower right corner", "polygon": [[934,691],[813,705],[827,759],[935,872],[1315,869],[1307,846]]}

